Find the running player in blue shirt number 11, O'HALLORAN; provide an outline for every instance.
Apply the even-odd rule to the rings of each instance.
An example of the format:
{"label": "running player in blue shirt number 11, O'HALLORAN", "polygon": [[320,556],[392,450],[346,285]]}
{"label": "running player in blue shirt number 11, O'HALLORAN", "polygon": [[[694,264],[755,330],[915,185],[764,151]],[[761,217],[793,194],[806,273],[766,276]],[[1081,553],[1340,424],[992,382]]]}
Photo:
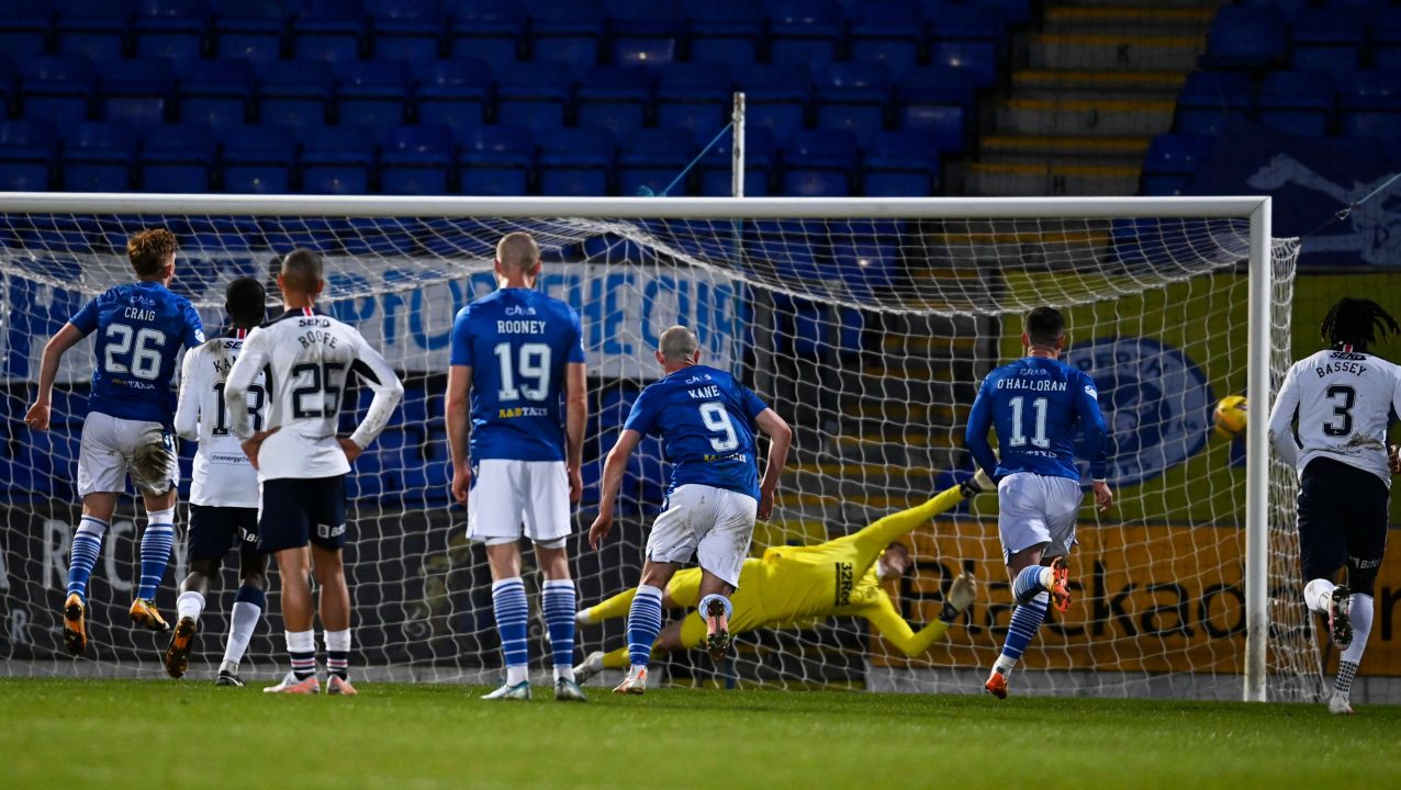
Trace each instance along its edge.
{"label": "running player in blue shirt number 11, O'HALLORAN", "polygon": [[[1075,517],[1084,494],[1075,466],[1075,436],[1084,431],[1090,478],[1100,511],[1114,504],[1105,482],[1107,433],[1094,380],[1059,360],[1065,318],[1049,307],[1027,314],[1021,333],[1027,356],[982,380],[968,416],[965,441],[974,459],[998,483],[998,534],[1017,601],[1007,639],[985,688],[1007,698],[1007,675],[1041,628],[1048,598],[1058,612],[1070,607],[1065,556],[1075,545]],[[998,431],[999,461],[988,444]]]}

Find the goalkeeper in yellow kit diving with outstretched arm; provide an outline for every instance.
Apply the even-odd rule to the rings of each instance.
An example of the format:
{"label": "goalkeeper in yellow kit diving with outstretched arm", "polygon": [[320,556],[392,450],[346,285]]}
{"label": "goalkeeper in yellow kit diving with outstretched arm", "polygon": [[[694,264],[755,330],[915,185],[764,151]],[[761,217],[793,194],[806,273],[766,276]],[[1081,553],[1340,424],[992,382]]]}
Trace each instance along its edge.
{"label": "goalkeeper in yellow kit diving with outstretched arm", "polygon": [[[968,609],[976,595],[976,584],[972,577],[960,574],[948,590],[939,619],[915,630],[881,588],[881,581],[904,576],[912,564],[909,550],[897,541],[929,524],[936,515],[991,489],[991,480],[979,471],[975,478],[923,504],[885,515],[859,532],[815,546],[771,546],[765,549],[762,559],[745,559],[731,601],[734,616],[730,633],[797,628],[821,618],[859,616],[870,621],[905,656],[913,658],[923,654]],[[626,590],[583,609],[577,615],[579,625],[626,616],[635,592],[636,590]],[[705,619],[693,609],[699,600],[700,569],[681,570],[671,577],[663,605],[692,608],[692,612],[661,629],[651,647],[653,657],[672,650],[705,647]],[[602,670],[626,670],[628,661],[628,646],[611,653],[590,653],[583,664],[574,667],[574,675],[583,682]]]}

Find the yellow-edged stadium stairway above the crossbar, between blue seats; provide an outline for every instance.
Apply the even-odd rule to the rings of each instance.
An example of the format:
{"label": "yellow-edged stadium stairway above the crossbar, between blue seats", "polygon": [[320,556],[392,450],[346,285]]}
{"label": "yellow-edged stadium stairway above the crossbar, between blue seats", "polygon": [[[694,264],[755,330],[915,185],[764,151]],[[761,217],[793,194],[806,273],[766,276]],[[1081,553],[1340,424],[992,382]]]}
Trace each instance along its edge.
{"label": "yellow-edged stadium stairway above the crossbar, between blue seats", "polygon": [[1059,0],[985,120],[969,195],[1135,195],[1220,0]]}

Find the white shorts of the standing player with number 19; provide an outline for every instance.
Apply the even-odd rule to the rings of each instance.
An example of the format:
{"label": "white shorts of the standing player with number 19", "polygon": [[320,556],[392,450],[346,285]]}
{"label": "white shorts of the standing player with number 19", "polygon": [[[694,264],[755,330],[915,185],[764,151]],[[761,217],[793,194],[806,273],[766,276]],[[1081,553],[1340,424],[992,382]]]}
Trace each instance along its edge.
{"label": "white shorts of the standing player with number 19", "polygon": [[560,543],[574,531],[569,517],[569,471],[563,461],[483,458],[467,497],[467,536],[507,543]]}

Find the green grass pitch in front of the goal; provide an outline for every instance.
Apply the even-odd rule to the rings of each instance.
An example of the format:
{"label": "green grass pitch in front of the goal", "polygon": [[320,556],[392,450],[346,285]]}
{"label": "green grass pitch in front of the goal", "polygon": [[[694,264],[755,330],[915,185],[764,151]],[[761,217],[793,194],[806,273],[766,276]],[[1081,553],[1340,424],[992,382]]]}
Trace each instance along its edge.
{"label": "green grass pitch in front of the goal", "polygon": [[[209,682],[0,679],[0,787],[1388,787],[1401,707],[660,689],[269,698]],[[545,688],[537,688],[546,692]],[[1014,689],[1013,689],[1014,691]]]}

